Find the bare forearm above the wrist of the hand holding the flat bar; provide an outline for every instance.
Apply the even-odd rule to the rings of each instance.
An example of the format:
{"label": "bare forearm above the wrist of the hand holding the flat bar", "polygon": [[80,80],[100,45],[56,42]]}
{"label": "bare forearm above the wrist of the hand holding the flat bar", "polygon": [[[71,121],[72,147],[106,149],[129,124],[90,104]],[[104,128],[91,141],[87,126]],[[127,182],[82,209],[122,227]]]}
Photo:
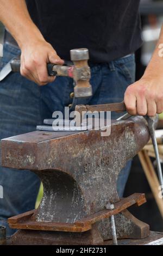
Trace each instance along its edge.
{"label": "bare forearm above the wrist of the hand holding the flat bar", "polygon": [[152,59],[149,62],[143,77],[146,77],[146,76],[150,77],[151,75],[157,76],[158,74],[162,74],[160,77],[162,79],[163,78],[163,25],[162,25],[158,44],[156,45]]}

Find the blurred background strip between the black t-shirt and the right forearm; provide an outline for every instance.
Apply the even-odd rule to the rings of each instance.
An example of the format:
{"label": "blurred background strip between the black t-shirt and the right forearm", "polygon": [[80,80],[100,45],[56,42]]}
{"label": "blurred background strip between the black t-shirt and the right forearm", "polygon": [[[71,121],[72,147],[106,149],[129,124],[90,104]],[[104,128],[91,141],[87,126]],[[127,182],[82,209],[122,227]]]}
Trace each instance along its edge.
{"label": "blurred background strip between the black t-shirt and the right forearm", "polygon": [[136,52],[136,80],[143,75],[159,38],[163,24],[163,1],[141,0],[140,13],[143,45]]}

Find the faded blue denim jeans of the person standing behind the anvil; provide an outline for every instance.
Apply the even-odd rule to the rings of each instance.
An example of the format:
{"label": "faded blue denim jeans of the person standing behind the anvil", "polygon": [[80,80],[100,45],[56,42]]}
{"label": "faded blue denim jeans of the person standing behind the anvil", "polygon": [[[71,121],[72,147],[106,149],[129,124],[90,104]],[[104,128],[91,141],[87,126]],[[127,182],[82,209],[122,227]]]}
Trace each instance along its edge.
{"label": "faded blue denim jeans of the person standing behind the anvil", "polygon": [[[0,68],[17,56],[20,51],[11,45],[4,45],[4,57]],[[127,86],[135,79],[134,54],[114,62],[91,66],[91,99],[73,100],[73,80],[57,77],[53,83],[39,87],[20,74],[11,73],[0,82],[0,139],[36,130],[43,119],[52,118],[54,111],[63,111],[73,102],[76,104],[102,104],[123,100]],[[122,113],[121,113],[122,114]],[[112,118],[120,114],[112,113]],[[129,175],[131,161],[122,169],[117,187],[120,197]],[[34,209],[40,180],[29,170],[0,168],[0,185],[4,198],[0,199],[0,225],[7,226],[7,234],[14,230],[8,227],[11,216]]]}

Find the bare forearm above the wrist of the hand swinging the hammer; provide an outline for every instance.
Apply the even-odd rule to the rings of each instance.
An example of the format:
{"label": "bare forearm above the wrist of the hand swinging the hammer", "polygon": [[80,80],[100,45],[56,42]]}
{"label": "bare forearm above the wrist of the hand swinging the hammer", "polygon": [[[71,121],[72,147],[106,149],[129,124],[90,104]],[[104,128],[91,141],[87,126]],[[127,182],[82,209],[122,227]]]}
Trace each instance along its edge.
{"label": "bare forearm above the wrist of the hand swinging the hammer", "polygon": [[0,20],[20,47],[28,44],[29,40],[43,40],[30,18],[25,0],[0,0]]}

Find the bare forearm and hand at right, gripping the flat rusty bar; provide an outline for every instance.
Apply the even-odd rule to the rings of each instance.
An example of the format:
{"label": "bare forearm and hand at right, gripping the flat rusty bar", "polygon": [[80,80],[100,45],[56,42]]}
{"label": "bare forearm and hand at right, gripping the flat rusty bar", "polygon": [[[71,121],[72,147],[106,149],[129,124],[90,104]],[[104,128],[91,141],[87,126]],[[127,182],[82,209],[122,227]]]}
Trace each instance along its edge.
{"label": "bare forearm and hand at right, gripping the flat rusty bar", "polygon": [[154,117],[163,112],[163,26],[152,59],[145,74],[131,84],[124,95],[127,111]]}

